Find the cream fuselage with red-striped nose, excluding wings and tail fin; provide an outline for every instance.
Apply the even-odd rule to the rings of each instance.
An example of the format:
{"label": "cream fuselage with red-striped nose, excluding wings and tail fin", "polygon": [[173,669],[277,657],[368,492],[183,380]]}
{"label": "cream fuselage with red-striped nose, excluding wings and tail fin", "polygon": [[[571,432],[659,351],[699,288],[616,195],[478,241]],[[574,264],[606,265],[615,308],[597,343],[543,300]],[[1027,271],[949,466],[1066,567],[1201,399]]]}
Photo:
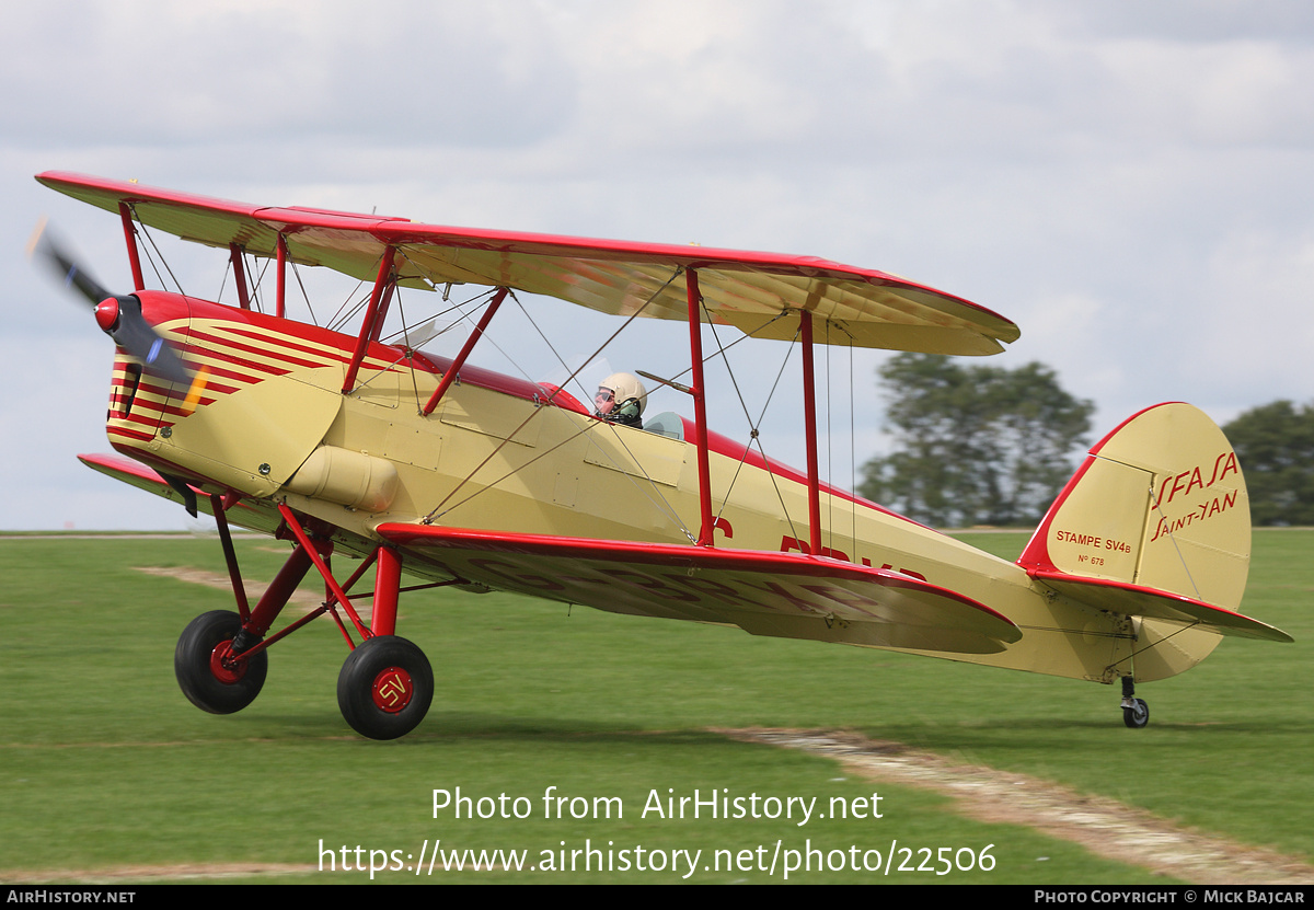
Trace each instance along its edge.
{"label": "cream fuselage with red-striped nose, excluding wings and tail fin", "polygon": [[[516,534],[692,544],[699,530],[699,427],[649,414],[648,429],[607,423],[576,398],[463,367],[430,414],[423,404],[449,362],[372,343],[344,392],[356,339],[317,326],[139,292],[147,320],[206,371],[163,387],[126,358],[114,368],[108,434],[162,473],[243,500],[238,522],[272,530],[273,502],[338,529],[367,552],[380,525],[426,522]],[[807,479],[708,433],[715,546],[808,552]],[[1056,596],[1021,567],[823,485],[821,560],[884,568],[959,592],[1009,617],[1024,636],[1005,651],[953,655],[1001,667],[1110,681],[1134,629]],[[448,575],[423,550],[407,571]],[[606,609],[606,608],[604,608]],[[946,656],[946,655],[941,655]]]}

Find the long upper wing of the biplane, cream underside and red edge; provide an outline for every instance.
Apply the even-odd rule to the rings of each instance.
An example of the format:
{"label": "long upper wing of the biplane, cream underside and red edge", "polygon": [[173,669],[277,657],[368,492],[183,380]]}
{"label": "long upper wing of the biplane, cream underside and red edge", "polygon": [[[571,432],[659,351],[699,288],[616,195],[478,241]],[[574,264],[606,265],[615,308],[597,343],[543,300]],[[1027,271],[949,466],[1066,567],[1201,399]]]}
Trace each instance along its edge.
{"label": "long upper wing of the biplane, cream underside and red edge", "polygon": [[46,172],[37,180],[110,212],[127,204],[145,225],[183,239],[273,256],[283,234],[294,262],[373,280],[388,246],[410,285],[474,283],[560,297],[604,313],[685,320],[681,270],[698,270],[714,318],[761,338],[792,338],[788,310],[829,322],[816,339],[933,354],[996,354],[1010,321],[907,279],[813,256],[548,234],[442,228],[405,218],[261,208],[135,183]]}

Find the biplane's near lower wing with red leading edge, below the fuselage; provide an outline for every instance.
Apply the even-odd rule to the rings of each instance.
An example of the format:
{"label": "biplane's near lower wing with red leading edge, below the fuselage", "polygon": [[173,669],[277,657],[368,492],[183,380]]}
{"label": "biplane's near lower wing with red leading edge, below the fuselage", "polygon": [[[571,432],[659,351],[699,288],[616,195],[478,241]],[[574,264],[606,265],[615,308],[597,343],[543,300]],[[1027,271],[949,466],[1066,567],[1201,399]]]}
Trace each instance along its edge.
{"label": "biplane's near lower wing with red leading edge, below the fuselage", "polygon": [[757,635],[995,654],[1022,633],[953,590],[802,554],[380,525],[403,560],[489,588],[612,613],[735,625]]}

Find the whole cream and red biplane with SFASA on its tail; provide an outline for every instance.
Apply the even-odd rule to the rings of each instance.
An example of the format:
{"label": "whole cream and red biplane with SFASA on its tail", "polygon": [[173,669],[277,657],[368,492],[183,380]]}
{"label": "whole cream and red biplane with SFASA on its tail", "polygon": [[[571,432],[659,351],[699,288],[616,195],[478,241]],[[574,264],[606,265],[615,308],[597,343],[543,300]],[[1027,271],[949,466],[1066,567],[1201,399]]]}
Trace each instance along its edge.
{"label": "whole cream and red biplane with SFASA on its tail", "polygon": [[[114,295],[49,235],[37,243],[117,345],[106,416],[117,454],[81,460],[215,518],[235,610],[197,617],[175,652],[183,692],[206,711],[251,704],[271,646],[327,614],[348,646],[338,680],[347,722],[374,739],[410,732],[434,675],[397,635],[397,605],[439,585],[1121,681],[1130,727],[1148,721],[1137,681],[1189,669],[1223,635],[1292,640],[1236,611],[1246,484],[1222,431],[1189,405],[1142,410],[1096,444],[1014,563],[820,480],[816,346],[988,355],[1018,338],[1013,322],[963,299],[807,256],[37,179],[118,217],[134,283]],[[222,251],[237,301],[147,289],[148,230]],[[272,271],[259,299],[251,263]],[[288,272],[302,267],[369,289],[359,327],[288,317]],[[455,358],[382,334],[402,289],[445,299],[466,285],[485,296]],[[686,414],[622,426],[565,384],[468,364],[516,292],[627,322],[686,322],[685,373],[648,375],[687,396]],[[704,334],[715,326],[802,351],[803,469],[711,430]],[[255,604],[233,525],[290,544]],[[350,577],[335,575],[334,554],[360,559]],[[272,631],[311,569],[323,604]],[[373,590],[352,594],[367,573]]]}

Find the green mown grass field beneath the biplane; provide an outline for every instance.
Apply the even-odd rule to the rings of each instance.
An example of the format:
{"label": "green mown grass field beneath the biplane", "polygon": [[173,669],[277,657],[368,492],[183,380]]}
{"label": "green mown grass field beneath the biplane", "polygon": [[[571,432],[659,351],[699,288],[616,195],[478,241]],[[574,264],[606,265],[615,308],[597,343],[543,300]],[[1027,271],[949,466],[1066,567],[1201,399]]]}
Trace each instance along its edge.
{"label": "green mown grass field beneath the biplane", "polygon": [[[1013,558],[1025,535],[971,542]],[[254,539],[239,551],[261,580],[286,552]],[[1311,863],[1311,554],[1314,531],[1256,533],[1243,610],[1296,644],[1229,639],[1189,673],[1138,686],[1151,707],[1139,731],[1122,726],[1113,686],[427,592],[403,598],[398,630],[434,664],[434,707],[410,736],[374,743],[338,711],[346,647],[327,621],[271,651],[247,710],[215,717],[185,701],[177,634],[231,594],[138,567],[219,572],[217,540],[0,537],[0,881],[347,884],[369,882],[356,869],[373,861],[394,867],[380,882],[766,882],[809,856],[812,871],[788,881],[1166,881],[1022,825],[972,821],[945,796],[721,732],[749,727],[895,740]],[[474,818],[435,811],[434,792],[455,803],[457,788]],[[549,788],[565,801],[545,803]],[[731,814],[738,798],[745,817],[657,813],[695,792]],[[832,817],[841,805],[849,818]],[[527,851],[536,871],[503,855],[495,871],[439,861],[428,874],[435,840]],[[422,848],[424,874],[396,868]],[[863,871],[867,851],[930,871]],[[336,873],[319,871],[330,864]]]}

